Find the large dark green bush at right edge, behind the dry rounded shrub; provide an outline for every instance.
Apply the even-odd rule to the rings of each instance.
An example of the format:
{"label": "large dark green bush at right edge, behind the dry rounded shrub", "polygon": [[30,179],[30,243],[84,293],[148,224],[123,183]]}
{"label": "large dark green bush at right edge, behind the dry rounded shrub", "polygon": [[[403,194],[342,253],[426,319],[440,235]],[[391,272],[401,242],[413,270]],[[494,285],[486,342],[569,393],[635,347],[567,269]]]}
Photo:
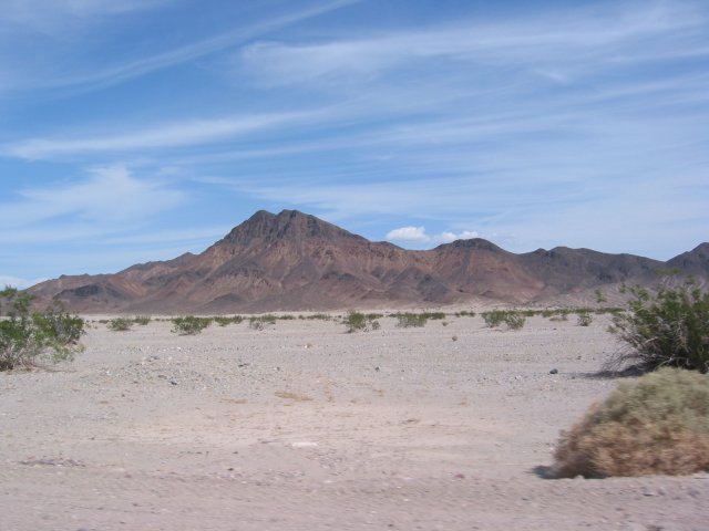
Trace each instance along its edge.
{"label": "large dark green bush at right edge, behind the dry rounded shrub", "polygon": [[662,365],[709,371],[709,292],[692,281],[655,293],[631,288],[628,311],[615,314],[610,332],[625,343],[609,362],[644,371]]}

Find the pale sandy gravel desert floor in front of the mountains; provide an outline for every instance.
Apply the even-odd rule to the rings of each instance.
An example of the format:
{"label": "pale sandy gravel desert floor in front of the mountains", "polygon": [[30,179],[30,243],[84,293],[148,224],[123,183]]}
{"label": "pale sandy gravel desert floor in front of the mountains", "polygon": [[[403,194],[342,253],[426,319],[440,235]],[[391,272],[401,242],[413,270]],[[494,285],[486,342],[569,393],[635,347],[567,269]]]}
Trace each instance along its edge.
{"label": "pale sandy gravel desert floor in front of the mountains", "polygon": [[0,374],[0,530],[709,529],[708,475],[544,478],[617,383],[603,317],[380,322],[95,324]]}

